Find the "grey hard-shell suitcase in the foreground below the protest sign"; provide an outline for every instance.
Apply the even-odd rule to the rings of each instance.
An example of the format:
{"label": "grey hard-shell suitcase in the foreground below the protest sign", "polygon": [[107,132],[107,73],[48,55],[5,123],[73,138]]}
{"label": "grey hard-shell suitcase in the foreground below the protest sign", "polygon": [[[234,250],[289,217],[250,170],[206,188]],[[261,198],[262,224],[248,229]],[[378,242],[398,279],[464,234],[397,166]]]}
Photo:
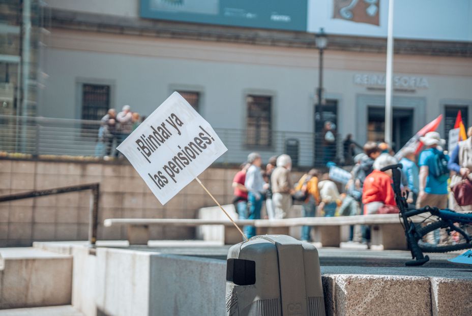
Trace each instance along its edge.
{"label": "grey hard-shell suitcase in the foreground below the protest sign", "polygon": [[325,315],[316,248],[285,235],[229,248],[226,315]]}

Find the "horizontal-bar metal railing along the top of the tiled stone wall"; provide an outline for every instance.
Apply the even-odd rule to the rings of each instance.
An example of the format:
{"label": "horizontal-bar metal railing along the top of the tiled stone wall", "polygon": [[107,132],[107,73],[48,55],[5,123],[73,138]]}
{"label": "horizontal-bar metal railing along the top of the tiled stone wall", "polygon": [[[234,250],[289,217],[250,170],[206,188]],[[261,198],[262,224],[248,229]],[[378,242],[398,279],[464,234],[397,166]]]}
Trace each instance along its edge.
{"label": "horizontal-bar metal railing along the top of the tiled stone wall", "polygon": [[[39,158],[100,159],[106,154],[106,143],[99,137],[100,121],[17,117],[0,115],[0,153],[9,156]],[[267,161],[271,156],[286,153],[294,166],[325,165],[327,161],[342,164],[342,138],[337,135],[335,145],[323,143],[321,133],[272,131],[269,146],[252,146],[248,132],[241,129],[215,128],[228,151],[219,163],[242,163],[252,151]],[[116,140],[110,156],[117,154]]]}

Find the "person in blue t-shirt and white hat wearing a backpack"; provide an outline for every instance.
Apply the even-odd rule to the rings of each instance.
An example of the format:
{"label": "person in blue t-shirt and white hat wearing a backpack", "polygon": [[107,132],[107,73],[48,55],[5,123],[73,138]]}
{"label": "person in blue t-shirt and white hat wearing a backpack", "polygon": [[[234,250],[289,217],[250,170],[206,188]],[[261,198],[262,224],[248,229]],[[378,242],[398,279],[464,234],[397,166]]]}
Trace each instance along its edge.
{"label": "person in blue t-shirt and white hat wearing a backpack", "polygon": [[444,146],[446,140],[441,139],[438,132],[429,132],[420,137],[420,141],[426,149],[421,152],[418,161],[420,189],[416,207],[429,205],[445,209],[448,206],[449,156],[439,150],[438,146]]}

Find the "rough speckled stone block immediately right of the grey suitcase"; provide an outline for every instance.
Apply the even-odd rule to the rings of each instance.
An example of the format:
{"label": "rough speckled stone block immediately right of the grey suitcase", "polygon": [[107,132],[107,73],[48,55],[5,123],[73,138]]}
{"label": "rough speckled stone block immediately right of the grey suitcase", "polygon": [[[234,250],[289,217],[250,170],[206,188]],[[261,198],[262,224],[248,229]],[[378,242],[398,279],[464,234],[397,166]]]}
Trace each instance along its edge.
{"label": "rough speckled stone block immediately right of the grey suitcase", "polygon": [[[332,277],[335,283],[332,292],[334,315],[395,315],[401,312],[402,316],[409,316],[431,313],[427,277],[349,274]],[[327,307],[330,310],[329,300]]]}

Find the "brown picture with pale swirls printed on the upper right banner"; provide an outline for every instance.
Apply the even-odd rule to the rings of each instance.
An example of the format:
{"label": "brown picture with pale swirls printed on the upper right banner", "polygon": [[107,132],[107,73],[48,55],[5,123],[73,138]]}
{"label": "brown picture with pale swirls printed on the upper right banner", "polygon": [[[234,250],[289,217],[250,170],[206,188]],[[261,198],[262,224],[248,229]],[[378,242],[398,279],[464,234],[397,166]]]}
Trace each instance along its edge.
{"label": "brown picture with pale swirls printed on the upper right banner", "polygon": [[379,0],[333,0],[333,18],[379,25]]}

